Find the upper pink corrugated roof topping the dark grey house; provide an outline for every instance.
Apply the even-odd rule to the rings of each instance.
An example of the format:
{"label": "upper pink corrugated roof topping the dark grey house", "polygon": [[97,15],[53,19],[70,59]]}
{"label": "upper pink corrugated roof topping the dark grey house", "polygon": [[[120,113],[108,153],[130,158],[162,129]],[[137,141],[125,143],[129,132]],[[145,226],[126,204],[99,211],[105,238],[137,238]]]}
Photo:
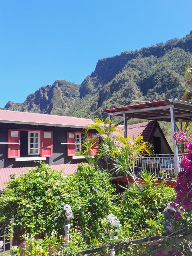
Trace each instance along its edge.
{"label": "upper pink corrugated roof topping the dark grey house", "polygon": [[14,124],[59,126],[70,128],[84,128],[87,127],[88,124],[93,123],[93,121],[88,118],[56,116],[3,109],[0,109],[0,122]]}

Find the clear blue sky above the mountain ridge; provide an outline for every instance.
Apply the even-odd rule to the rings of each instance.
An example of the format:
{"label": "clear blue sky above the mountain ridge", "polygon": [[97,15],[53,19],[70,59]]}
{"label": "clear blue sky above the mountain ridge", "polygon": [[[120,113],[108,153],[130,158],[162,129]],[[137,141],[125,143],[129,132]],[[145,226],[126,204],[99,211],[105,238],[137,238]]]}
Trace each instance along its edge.
{"label": "clear blue sky above the mountain ridge", "polygon": [[191,0],[0,0],[0,107],[192,30]]}

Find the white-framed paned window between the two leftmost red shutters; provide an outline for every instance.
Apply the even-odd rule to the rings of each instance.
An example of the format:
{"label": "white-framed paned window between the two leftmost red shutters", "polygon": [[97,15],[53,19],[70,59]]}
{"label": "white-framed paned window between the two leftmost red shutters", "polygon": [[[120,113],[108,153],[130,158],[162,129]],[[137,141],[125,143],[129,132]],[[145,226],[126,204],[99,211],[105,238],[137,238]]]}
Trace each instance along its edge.
{"label": "white-framed paned window between the two leftmost red shutters", "polygon": [[28,155],[39,155],[39,132],[28,132]]}

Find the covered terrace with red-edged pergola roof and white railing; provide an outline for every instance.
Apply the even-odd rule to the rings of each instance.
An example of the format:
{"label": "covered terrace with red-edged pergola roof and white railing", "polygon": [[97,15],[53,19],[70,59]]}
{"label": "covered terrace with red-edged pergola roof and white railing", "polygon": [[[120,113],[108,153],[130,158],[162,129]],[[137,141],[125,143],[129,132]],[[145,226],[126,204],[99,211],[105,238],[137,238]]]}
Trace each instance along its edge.
{"label": "covered terrace with red-edged pergola roof and white railing", "polygon": [[[123,117],[121,123],[123,123],[124,126],[125,136],[127,135],[127,120],[131,118],[170,122],[173,135],[175,132],[187,128],[189,122],[191,122],[192,103],[169,99],[111,108],[104,110],[104,112],[108,113],[110,119],[112,119],[113,116]],[[185,122],[185,127],[182,126],[183,122]],[[185,154],[184,145],[181,147],[182,154]],[[178,154],[177,142],[173,140],[173,154],[142,156],[133,168],[135,175],[139,176],[141,170],[148,169],[154,172],[158,178],[173,180],[181,170],[179,163],[182,154]]]}

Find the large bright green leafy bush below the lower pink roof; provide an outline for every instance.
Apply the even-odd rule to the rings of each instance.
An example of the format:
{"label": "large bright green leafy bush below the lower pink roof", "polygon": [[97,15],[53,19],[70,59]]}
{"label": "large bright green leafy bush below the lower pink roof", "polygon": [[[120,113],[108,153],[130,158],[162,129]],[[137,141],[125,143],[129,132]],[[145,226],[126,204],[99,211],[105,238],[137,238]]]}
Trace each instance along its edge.
{"label": "large bright green leafy bush below the lower pink roof", "polygon": [[[7,183],[0,196],[0,221],[14,215],[16,228],[29,234],[63,233],[63,202],[71,205],[72,224],[95,235],[98,219],[112,205],[114,188],[106,171],[79,165],[73,175],[62,176],[44,163]],[[90,234],[89,233],[89,234]]]}

